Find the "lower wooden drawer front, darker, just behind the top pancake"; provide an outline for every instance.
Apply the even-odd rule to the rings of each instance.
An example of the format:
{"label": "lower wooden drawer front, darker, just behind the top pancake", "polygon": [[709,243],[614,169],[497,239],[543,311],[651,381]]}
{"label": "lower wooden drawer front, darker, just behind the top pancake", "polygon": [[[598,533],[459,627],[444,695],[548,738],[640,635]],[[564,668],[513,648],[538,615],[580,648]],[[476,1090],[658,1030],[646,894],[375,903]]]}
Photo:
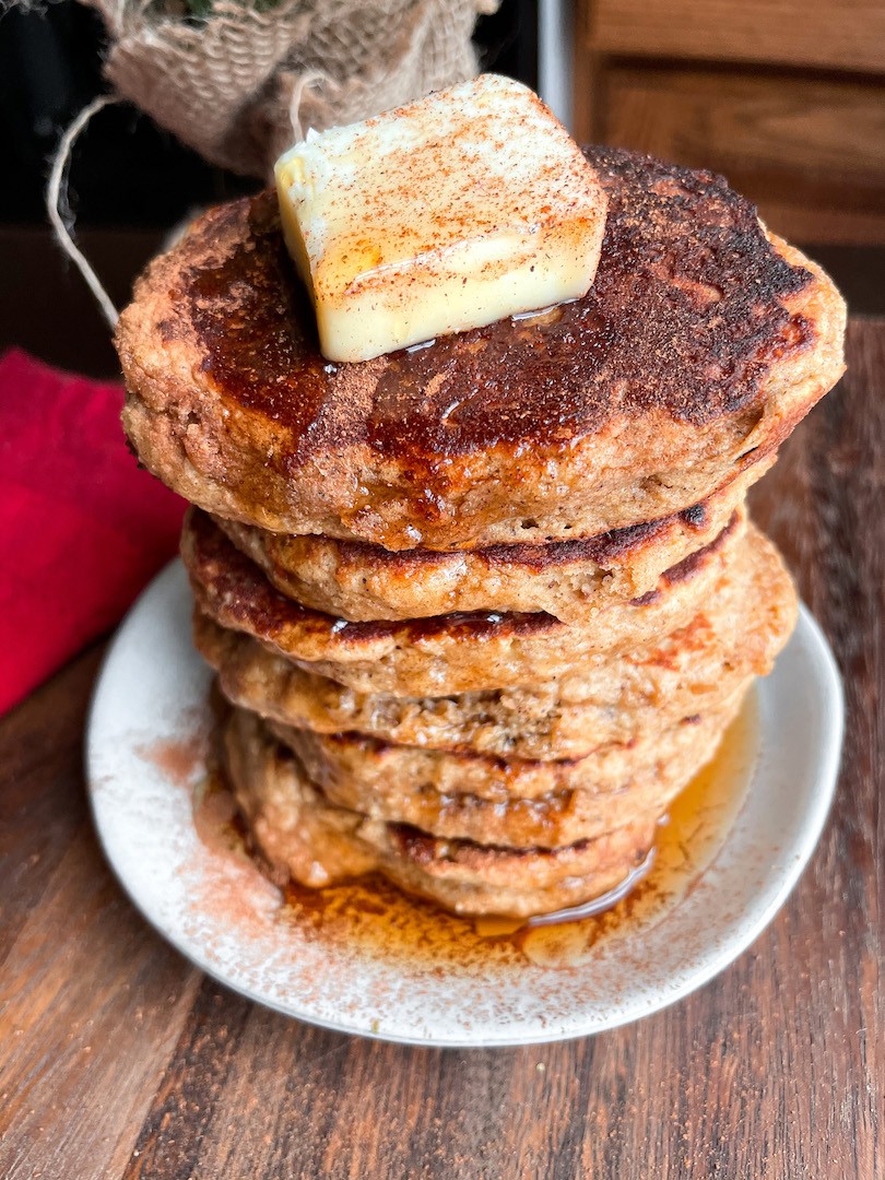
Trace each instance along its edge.
{"label": "lower wooden drawer front, darker, just behind the top pancake", "polygon": [[601,64],[595,91],[594,139],[725,172],[794,237],[885,241],[885,86]]}

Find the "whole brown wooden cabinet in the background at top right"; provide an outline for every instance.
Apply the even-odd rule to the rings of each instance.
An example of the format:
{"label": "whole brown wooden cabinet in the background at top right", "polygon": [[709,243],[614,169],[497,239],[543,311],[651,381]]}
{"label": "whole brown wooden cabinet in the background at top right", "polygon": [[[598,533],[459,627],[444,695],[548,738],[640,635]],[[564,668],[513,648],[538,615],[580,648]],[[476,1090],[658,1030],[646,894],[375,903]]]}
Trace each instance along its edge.
{"label": "whole brown wooden cabinet in the background at top right", "polygon": [[800,242],[885,243],[885,0],[585,0],[576,132],[725,172]]}

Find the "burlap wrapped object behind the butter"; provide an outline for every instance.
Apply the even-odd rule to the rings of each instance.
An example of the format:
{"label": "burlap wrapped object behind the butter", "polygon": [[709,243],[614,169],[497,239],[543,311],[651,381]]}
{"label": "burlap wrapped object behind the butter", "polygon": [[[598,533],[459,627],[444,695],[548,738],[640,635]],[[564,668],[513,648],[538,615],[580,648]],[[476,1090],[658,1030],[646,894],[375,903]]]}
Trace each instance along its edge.
{"label": "burlap wrapped object behind the butter", "polygon": [[85,0],[105,76],[214,164],[267,177],[308,127],[367,118],[477,72],[471,33],[498,0],[221,0],[204,22],[145,0]]}

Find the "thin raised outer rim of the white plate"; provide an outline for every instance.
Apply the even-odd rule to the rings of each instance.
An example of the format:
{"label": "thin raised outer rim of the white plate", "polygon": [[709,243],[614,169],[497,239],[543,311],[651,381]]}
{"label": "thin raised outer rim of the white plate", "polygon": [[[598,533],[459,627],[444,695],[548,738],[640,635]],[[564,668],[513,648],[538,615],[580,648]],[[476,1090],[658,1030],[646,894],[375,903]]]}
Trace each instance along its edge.
{"label": "thin raised outer rim of the white plate", "polygon": [[[137,896],[137,892],[133,892],[131,889],[130,880],[126,877],[125,864],[119,863],[118,848],[107,837],[103,821],[104,815],[99,804],[100,793],[96,785],[99,781],[99,762],[101,758],[100,749],[103,746],[101,735],[99,733],[99,720],[101,710],[105,707],[104,694],[109,690],[109,670],[117,660],[122,658],[120,653],[124,649],[126,640],[129,638],[129,631],[135,623],[139,621],[142,612],[148,609],[151,599],[155,597],[162,598],[164,597],[164,594],[173,592],[173,584],[177,579],[181,579],[182,576],[183,566],[181,559],[175,558],[149,583],[122,621],[101,661],[86,717],[84,743],[86,789],[92,822],[101,846],[103,856],[110,865],[123,892],[135,905],[142,917],[148,922],[148,924],[166,943],[173,946],[175,950],[183,956],[183,958],[190,962],[194,966],[198,968],[216,983],[237,995],[244,996],[254,1003],[258,1003],[264,1008],[277,1011],[290,1020],[297,1020],[315,1028],[322,1028],[349,1036],[361,1036],[394,1044],[438,1049],[514,1048],[519,1045],[546,1044],[576,1040],[583,1036],[592,1036],[597,1032],[621,1028],[625,1024],[634,1023],[635,1021],[644,1020],[647,1016],[677,1003],[693,991],[704,986],[710,982],[710,979],[725,970],[726,966],[743,955],[743,952],[763,933],[778,911],[782,907],[818,847],[839,780],[839,767],[845,732],[845,694],[839,668],[832,649],[814,616],[811,614],[808,608],[800,602],[796,627],[789,642],[801,642],[809,649],[809,658],[820,674],[815,678],[814,687],[821,703],[821,715],[825,722],[825,732],[821,733],[819,739],[821,756],[817,762],[814,786],[809,792],[809,802],[804,813],[801,846],[798,850],[795,847],[791,847],[794,856],[788,865],[780,867],[776,877],[776,885],[774,887],[761,890],[762,896],[766,898],[765,904],[759,906],[758,910],[753,910],[750,906],[749,912],[753,914],[752,919],[748,918],[747,913],[743,913],[740,917],[740,933],[730,939],[725,939],[716,948],[704,952],[702,963],[691,970],[687,970],[676,985],[667,990],[663,998],[661,996],[655,997],[650,994],[645,994],[644,996],[637,997],[632,1004],[628,1004],[623,1009],[620,1009],[614,1015],[614,1018],[604,1022],[597,1021],[594,1023],[594,1027],[564,1027],[548,1030],[538,1029],[536,1032],[523,1031],[510,1034],[503,1029],[502,1035],[480,1035],[471,1037],[400,1035],[387,1029],[373,1029],[371,1025],[366,1027],[366,1024],[360,1021],[335,1021],[309,1011],[294,1011],[291,1005],[287,1007],[274,996],[268,996],[260,989],[251,988],[247,982],[231,979],[230,975],[225,975],[221,971],[217,964],[201,952],[199,948],[195,948],[192,942],[189,942],[184,933],[177,930],[170,931],[163,923],[162,918],[157,916],[156,907],[153,907],[155,912],[152,912],[150,902],[140,896]],[[196,660],[199,660],[196,649],[194,649],[192,654]],[[752,690],[759,690],[759,681],[754,682]],[[663,989],[658,990],[662,991]]]}

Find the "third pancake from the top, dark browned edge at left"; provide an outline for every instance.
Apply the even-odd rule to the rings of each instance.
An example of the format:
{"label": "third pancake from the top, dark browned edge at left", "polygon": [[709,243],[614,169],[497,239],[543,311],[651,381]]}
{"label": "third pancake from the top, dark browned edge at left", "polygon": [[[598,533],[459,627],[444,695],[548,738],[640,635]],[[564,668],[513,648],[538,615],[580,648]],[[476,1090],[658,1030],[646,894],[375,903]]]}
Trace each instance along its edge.
{"label": "third pancake from the top, dark browned edge at left", "polygon": [[745,559],[746,517],[664,573],[643,598],[589,612],[582,624],[551,615],[457,614],[348,623],[275,590],[204,512],[185,520],[182,556],[199,609],[320,675],[362,693],[442,695],[535,684],[566,675],[590,653],[635,648],[675,630]]}

